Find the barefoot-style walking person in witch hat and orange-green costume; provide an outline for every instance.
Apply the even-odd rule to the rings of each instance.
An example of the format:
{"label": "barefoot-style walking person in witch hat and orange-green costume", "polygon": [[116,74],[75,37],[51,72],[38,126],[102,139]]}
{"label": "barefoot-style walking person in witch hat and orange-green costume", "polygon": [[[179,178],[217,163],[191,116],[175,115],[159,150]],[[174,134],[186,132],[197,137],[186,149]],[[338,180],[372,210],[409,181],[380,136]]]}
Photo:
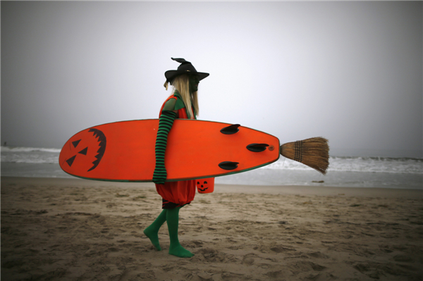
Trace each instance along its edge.
{"label": "barefoot-style walking person in witch hat and orange-green costume", "polygon": [[[166,168],[164,166],[164,154],[166,151],[168,132],[171,130],[175,118],[197,119],[198,99],[197,90],[200,80],[209,76],[209,73],[199,73],[192,63],[183,58],[172,58],[180,63],[177,70],[168,70],[164,73],[166,82],[164,87],[168,89],[170,83],[174,87],[173,94],[164,101],[159,113],[159,130],[156,139],[156,167],[154,169],[153,182],[157,192],[162,197],[160,215],[144,230],[144,234],[152,244],[161,251],[159,244],[159,229],[164,222],[167,223],[169,238],[169,254],[182,258],[194,256],[190,251],[180,245],[178,239],[179,210],[194,199],[195,180],[183,180],[178,182],[166,182]],[[183,159],[180,159],[183,161]]]}

